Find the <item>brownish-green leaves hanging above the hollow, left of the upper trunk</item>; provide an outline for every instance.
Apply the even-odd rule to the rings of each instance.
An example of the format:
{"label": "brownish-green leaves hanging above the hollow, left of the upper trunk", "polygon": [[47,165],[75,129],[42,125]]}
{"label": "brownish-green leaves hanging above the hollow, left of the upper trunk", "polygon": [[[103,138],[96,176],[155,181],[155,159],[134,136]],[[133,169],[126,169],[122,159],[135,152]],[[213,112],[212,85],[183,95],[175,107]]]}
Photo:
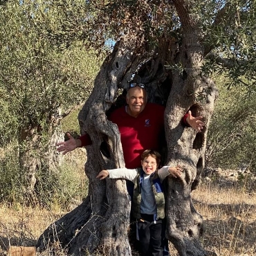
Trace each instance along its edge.
{"label": "brownish-green leaves hanging above the hollow, left of the upper trunk", "polygon": [[140,38],[138,45],[146,40],[154,44],[172,28],[176,15],[174,6],[159,1],[71,1],[56,0],[47,3],[52,21],[48,36],[53,44],[62,48],[75,41],[83,41],[98,51],[106,50],[106,40],[116,42],[121,35],[132,34]]}

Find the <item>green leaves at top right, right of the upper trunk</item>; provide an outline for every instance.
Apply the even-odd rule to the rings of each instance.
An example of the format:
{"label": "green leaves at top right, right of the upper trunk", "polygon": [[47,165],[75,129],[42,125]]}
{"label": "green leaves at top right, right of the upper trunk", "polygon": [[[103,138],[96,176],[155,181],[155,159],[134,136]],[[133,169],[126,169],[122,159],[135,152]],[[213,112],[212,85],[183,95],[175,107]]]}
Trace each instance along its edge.
{"label": "green leaves at top right, right of the upper trunk", "polygon": [[228,86],[246,85],[247,91],[255,93],[255,1],[198,2],[203,10],[205,54],[210,53],[205,56],[204,72],[223,74]]}

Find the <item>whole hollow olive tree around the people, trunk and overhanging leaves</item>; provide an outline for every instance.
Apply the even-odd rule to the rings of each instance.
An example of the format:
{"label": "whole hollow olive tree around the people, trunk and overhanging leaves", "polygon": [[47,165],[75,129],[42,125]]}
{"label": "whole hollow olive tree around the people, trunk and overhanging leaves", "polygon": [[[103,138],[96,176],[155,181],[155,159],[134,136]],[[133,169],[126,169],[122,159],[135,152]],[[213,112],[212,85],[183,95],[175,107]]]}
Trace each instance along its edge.
{"label": "whole hollow olive tree around the people, trunk and overhanging leaves", "polygon": [[[127,90],[134,71],[147,84],[149,101],[165,104],[165,164],[180,163],[181,181],[168,179],[165,235],[179,255],[207,255],[200,243],[203,219],[190,192],[196,189],[205,165],[206,138],[217,98],[210,75],[219,69],[233,77],[253,77],[251,40],[254,3],[247,1],[55,1],[57,10],[73,24],[59,21],[52,31],[56,44],[84,40],[100,48],[107,39],[116,42],[94,81],[93,91],[78,116],[81,132],[93,141],[86,146],[89,196],[55,221],[37,241],[37,248],[58,242],[73,255],[131,255],[129,199],[125,182],[98,181],[100,170],[124,167],[118,127],[106,112],[121,90]],[[56,6],[50,6],[56,8]],[[80,17],[81,10],[88,15]],[[64,29],[63,29],[64,28]],[[60,33],[60,31],[62,31]],[[64,32],[63,32],[64,31]],[[255,90],[255,77],[248,88]],[[203,116],[205,127],[196,134],[183,127],[187,111]],[[107,144],[109,154],[102,154]]]}

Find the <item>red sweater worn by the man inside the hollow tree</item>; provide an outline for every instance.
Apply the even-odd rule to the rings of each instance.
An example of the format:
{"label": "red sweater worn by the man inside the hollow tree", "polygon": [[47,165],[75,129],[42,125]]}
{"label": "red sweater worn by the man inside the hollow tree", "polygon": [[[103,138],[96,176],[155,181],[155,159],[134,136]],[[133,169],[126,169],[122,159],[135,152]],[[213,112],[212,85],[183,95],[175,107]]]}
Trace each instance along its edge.
{"label": "red sweater worn by the man inside the hollow tree", "polygon": [[[165,108],[159,104],[147,103],[145,109],[136,118],[126,113],[125,107],[111,113],[109,120],[118,125],[125,167],[128,169],[141,166],[140,155],[144,150],[158,150],[159,136],[164,132],[164,111]],[[91,145],[88,134],[80,136],[79,139],[82,141],[82,147]]]}

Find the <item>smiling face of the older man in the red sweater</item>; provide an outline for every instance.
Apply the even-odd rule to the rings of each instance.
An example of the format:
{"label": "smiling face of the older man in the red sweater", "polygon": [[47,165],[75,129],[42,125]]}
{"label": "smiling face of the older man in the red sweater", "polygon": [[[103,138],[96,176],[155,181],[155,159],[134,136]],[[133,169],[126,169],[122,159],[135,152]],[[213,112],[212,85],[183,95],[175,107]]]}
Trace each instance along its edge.
{"label": "smiling face of the older man in the red sweater", "polygon": [[145,109],[147,103],[145,89],[139,86],[130,88],[127,92],[126,101],[128,104],[127,113],[136,118]]}

